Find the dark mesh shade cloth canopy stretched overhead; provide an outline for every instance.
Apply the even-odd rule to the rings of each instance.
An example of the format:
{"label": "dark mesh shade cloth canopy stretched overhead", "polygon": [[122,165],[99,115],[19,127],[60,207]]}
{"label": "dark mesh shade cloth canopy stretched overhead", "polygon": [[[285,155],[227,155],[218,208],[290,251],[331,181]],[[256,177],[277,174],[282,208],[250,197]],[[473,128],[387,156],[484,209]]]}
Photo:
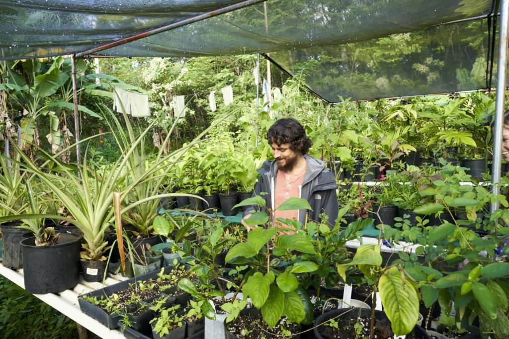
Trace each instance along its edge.
{"label": "dark mesh shade cloth canopy stretched overhead", "polygon": [[[75,54],[239,1],[0,0],[0,59]],[[491,87],[496,0],[273,0],[94,51],[264,53],[334,103]],[[211,14],[213,15],[213,13]],[[494,48],[495,47],[495,48]],[[496,52],[495,52],[496,54]]]}

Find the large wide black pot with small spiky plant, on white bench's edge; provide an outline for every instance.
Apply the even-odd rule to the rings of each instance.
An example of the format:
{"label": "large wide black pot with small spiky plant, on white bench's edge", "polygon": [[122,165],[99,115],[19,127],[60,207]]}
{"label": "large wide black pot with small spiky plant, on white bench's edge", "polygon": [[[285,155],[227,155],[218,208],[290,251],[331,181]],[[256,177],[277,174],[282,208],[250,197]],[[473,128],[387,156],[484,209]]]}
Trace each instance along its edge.
{"label": "large wide black pot with small spiky plant, on white bench's edge", "polygon": [[21,241],[26,292],[58,293],[79,283],[81,236],[62,233],[59,243],[36,246],[35,237]]}

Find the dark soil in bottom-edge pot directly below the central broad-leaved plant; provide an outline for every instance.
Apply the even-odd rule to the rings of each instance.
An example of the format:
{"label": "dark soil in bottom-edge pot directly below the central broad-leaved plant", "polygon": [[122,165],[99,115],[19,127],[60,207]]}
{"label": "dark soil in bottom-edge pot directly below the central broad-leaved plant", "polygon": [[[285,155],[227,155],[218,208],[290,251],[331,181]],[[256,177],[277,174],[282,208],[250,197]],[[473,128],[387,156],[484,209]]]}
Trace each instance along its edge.
{"label": "dark soil in bottom-edge pot directly below the central broad-leaved plant", "polygon": [[[239,338],[246,339],[281,339],[281,335],[298,333],[299,326],[288,322],[286,317],[281,318],[274,328],[270,328],[264,323],[262,315],[257,313],[253,315],[241,315],[231,323],[226,325],[226,329]],[[353,336],[355,338],[355,336]],[[290,338],[290,336],[286,336]]]}

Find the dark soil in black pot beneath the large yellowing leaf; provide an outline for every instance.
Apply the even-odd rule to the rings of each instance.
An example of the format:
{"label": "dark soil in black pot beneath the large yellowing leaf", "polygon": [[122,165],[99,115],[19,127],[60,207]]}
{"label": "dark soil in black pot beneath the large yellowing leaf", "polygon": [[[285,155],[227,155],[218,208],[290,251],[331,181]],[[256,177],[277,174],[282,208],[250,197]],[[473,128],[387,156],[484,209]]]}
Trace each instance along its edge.
{"label": "dark soil in black pot beneath the large yellowing leaf", "polygon": [[[370,337],[370,320],[369,319],[335,319],[337,321],[337,328],[332,326],[323,326],[320,334],[324,339],[352,339],[352,338],[369,338]],[[355,324],[359,324],[355,326]],[[394,332],[390,327],[385,326],[377,327],[378,320],[375,320],[375,338],[377,339],[392,339]],[[357,327],[357,328],[356,328]],[[358,331],[358,332],[357,332]],[[416,339],[413,333],[407,334],[405,338]]]}

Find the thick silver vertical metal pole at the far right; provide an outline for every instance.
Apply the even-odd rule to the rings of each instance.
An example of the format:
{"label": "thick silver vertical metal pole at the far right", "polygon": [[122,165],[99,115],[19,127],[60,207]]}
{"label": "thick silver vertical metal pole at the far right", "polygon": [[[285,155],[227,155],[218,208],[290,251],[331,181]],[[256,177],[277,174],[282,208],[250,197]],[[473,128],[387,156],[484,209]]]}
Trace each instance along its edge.
{"label": "thick silver vertical metal pole at the far right", "polygon": [[[507,37],[509,29],[509,0],[500,3],[500,30],[498,36],[497,61],[497,94],[495,99],[495,128],[493,132],[493,165],[491,168],[491,182],[494,185],[493,194],[500,193],[500,170],[502,160],[502,129],[505,106],[505,73],[507,65]],[[491,204],[490,213],[498,209],[498,200]]]}

